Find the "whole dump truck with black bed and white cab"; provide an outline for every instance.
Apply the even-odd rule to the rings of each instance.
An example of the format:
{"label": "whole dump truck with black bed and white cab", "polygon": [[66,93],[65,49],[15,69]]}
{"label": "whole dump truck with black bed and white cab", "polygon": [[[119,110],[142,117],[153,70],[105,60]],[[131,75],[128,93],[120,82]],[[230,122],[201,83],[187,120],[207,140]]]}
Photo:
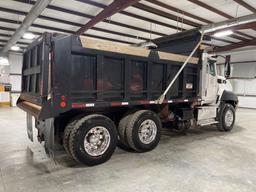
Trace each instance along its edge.
{"label": "whole dump truck with black bed and white cab", "polygon": [[217,56],[201,46],[207,39],[187,31],[145,49],[44,33],[23,56],[17,106],[27,112],[28,137],[37,130],[47,154],[64,148],[91,166],[109,160],[117,145],[153,150],[163,126],[230,131],[238,99],[217,74]]}

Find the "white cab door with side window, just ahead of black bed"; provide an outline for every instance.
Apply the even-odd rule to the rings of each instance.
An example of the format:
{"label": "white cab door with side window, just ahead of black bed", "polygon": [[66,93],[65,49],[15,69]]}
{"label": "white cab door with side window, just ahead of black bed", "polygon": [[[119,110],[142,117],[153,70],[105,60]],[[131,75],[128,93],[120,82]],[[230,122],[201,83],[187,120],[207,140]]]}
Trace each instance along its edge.
{"label": "white cab door with side window, just ahead of black bed", "polygon": [[204,57],[201,74],[201,97],[206,104],[215,104],[218,93],[216,59]]}

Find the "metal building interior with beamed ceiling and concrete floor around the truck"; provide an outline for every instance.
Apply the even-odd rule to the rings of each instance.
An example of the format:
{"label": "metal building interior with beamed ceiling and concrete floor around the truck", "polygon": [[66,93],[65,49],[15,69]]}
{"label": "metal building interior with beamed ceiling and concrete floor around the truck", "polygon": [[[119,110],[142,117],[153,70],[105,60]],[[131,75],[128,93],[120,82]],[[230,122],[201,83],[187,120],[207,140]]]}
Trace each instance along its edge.
{"label": "metal building interior with beamed ceiling and concrete floor around the truck", "polygon": [[[43,145],[27,139],[26,113],[16,106],[23,55],[45,32],[136,50],[193,30],[208,37],[200,45],[205,50],[230,58],[228,80],[239,100],[231,132],[207,125],[177,134],[164,127],[156,149],[117,147],[109,161],[92,167],[61,152],[49,158]],[[225,62],[218,57],[220,76]],[[255,110],[255,0],[0,0],[0,192],[253,192]]]}

